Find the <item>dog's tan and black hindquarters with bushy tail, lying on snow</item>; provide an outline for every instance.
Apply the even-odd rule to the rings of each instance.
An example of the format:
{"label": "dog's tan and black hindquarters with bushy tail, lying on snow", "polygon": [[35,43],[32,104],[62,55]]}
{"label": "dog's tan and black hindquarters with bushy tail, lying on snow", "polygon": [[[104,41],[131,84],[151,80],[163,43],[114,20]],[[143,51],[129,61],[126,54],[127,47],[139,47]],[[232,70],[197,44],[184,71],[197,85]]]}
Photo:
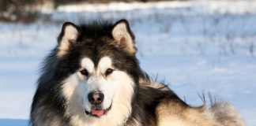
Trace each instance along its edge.
{"label": "dog's tan and black hindquarters with bushy tail, lying on snow", "polygon": [[[235,107],[226,102],[212,102],[207,106],[193,107],[183,102],[170,88],[163,83],[141,79],[141,88],[152,92],[146,93],[154,99],[154,113],[157,126],[244,126],[244,120],[236,112]],[[152,91],[153,88],[154,91]],[[143,91],[143,90],[142,90]],[[145,91],[147,92],[147,91]],[[151,98],[151,99],[152,99]],[[154,125],[154,124],[152,124]]]}

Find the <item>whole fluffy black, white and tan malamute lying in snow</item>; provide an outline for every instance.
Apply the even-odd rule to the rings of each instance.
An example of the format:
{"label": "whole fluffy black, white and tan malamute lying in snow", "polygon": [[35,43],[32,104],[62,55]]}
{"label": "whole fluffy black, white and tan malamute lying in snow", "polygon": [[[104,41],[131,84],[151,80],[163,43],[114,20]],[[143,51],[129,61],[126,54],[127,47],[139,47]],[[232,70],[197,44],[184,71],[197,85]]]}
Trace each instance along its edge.
{"label": "whole fluffy black, white and tan malamute lying in snow", "polygon": [[189,106],[140,68],[127,20],[66,22],[43,61],[33,126],[243,126],[225,102]]}

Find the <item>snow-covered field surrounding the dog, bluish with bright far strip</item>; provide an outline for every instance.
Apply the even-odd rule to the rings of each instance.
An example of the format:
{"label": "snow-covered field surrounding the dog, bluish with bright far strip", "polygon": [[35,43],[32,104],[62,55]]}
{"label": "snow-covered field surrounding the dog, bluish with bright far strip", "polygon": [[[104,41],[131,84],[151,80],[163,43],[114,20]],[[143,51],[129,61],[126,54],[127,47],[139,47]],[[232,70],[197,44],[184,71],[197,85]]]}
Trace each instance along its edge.
{"label": "snow-covered field surrounding the dog, bluish with bright far strip", "polygon": [[28,125],[40,62],[56,44],[62,23],[126,18],[137,57],[150,76],[201,105],[211,92],[256,125],[256,1],[111,3],[43,9],[51,23],[0,22],[0,125]]}

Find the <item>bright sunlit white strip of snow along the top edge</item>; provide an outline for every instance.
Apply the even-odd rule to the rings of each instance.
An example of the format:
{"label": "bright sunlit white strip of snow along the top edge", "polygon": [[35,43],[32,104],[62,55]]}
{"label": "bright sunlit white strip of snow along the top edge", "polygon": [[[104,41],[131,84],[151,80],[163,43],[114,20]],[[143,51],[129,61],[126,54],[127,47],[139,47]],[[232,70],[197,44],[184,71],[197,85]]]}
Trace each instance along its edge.
{"label": "bright sunlit white strip of snow along the top edge", "polygon": [[[209,12],[218,13],[255,13],[256,2],[254,0],[235,0],[235,1],[220,1],[220,0],[199,0],[194,1],[171,1],[171,2],[111,2],[108,4],[88,4],[81,3],[79,5],[73,4],[68,6],[58,6],[58,12],[106,12],[106,11],[127,11],[134,9],[177,9],[177,8],[188,8],[188,7],[198,7],[200,9],[207,10]],[[47,11],[51,12],[51,11]]]}

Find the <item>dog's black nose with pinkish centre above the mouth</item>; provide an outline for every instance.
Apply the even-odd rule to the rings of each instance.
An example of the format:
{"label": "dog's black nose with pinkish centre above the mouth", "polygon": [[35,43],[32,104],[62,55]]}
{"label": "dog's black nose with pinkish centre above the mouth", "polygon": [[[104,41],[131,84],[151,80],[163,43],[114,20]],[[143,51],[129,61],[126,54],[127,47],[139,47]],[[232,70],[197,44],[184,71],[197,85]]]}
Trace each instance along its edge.
{"label": "dog's black nose with pinkish centre above the mouth", "polygon": [[88,94],[88,101],[94,105],[101,104],[104,101],[104,94],[94,91]]}

